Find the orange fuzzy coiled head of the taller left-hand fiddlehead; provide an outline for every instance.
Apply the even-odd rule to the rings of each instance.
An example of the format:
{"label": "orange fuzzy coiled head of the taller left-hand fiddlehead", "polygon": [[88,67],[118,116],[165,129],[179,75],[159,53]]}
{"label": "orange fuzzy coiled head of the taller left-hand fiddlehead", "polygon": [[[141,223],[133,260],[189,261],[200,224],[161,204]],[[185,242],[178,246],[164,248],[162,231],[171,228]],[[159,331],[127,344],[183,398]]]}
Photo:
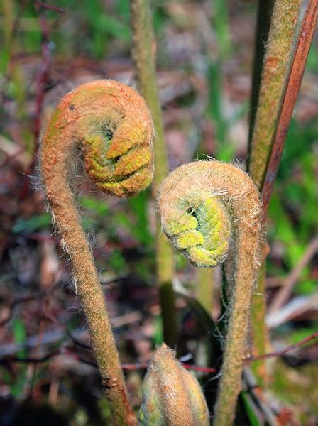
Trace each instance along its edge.
{"label": "orange fuzzy coiled head of the taller left-hand fiddlehead", "polygon": [[153,138],[153,120],[136,90],[114,80],[83,84],[61,99],[45,128],[45,180],[53,175],[52,166],[55,174],[67,174],[78,146],[100,190],[136,195],[153,180]]}

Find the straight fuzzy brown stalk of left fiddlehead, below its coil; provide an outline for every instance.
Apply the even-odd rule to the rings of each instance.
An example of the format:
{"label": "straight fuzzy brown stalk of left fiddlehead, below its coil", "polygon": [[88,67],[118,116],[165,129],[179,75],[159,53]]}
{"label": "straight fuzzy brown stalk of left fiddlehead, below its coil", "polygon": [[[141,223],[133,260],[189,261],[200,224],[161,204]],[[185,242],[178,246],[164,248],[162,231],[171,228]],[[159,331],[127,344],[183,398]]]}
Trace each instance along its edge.
{"label": "straight fuzzy brown stalk of left fiddlehead, below its coil", "polygon": [[60,180],[56,184],[59,187],[59,196],[57,199],[51,198],[52,210],[63,244],[70,253],[77,295],[87,319],[92,349],[102,376],[106,398],[111,403],[114,425],[136,425],[136,418],[128,402],[124,375],[92,251],[87,244],[69,188],[67,185],[61,185]]}

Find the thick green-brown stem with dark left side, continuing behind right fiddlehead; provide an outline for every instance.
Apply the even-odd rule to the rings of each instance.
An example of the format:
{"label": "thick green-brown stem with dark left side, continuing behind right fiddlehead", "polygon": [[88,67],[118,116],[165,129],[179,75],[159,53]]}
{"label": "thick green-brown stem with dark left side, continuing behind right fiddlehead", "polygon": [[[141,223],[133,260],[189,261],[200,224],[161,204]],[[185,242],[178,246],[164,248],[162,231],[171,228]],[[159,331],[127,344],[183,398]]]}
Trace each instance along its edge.
{"label": "thick green-brown stem with dark left side, continuing behind right fiddlehead", "polygon": [[[301,0],[277,0],[275,2],[260,0],[258,5],[248,171],[259,190],[263,187],[290,77],[300,28],[302,3]],[[265,251],[265,246],[263,246],[263,251]],[[268,329],[265,323],[265,258],[264,255],[263,267],[256,280],[256,291],[252,298],[253,356],[264,354],[268,346]],[[253,371],[261,383],[268,381],[266,364],[265,359],[253,364]]]}

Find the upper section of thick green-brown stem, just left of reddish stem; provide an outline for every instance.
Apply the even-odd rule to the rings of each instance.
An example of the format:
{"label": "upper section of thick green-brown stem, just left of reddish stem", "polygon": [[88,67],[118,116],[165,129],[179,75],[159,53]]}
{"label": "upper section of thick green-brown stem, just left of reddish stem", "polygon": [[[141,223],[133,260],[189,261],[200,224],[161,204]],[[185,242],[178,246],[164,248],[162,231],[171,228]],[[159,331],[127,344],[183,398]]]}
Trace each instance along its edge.
{"label": "upper section of thick green-brown stem, just left of reddish stem", "polygon": [[290,76],[302,3],[303,0],[276,0],[273,8],[250,148],[249,173],[260,189]]}

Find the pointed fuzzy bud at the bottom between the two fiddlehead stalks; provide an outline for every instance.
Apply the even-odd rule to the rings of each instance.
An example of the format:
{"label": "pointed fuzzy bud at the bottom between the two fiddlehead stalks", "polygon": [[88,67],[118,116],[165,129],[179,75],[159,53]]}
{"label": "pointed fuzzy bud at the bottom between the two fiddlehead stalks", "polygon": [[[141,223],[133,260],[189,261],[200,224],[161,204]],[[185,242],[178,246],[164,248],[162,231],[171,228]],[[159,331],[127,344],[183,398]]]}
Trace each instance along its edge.
{"label": "pointed fuzzy bud at the bottom between the two fiddlehead stalks", "polygon": [[197,379],[165,344],[153,354],[143,381],[139,425],[209,425],[207,403]]}

